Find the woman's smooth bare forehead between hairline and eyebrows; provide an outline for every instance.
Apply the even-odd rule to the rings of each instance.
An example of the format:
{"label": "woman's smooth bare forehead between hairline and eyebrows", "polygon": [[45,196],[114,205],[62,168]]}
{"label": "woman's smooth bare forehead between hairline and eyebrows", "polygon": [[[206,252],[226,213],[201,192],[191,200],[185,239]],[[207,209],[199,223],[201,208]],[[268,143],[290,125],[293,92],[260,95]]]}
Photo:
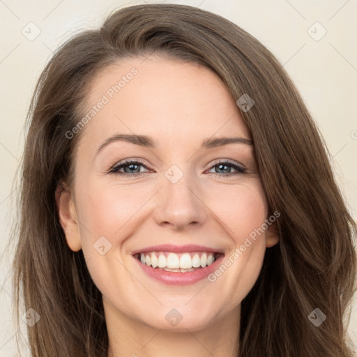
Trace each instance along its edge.
{"label": "woman's smooth bare forehead between hairline and eyebrows", "polygon": [[213,71],[159,56],[125,59],[102,70],[91,84],[89,111],[93,116],[82,134],[96,144],[115,132],[172,144],[201,143],[213,135],[250,137],[234,98]]}

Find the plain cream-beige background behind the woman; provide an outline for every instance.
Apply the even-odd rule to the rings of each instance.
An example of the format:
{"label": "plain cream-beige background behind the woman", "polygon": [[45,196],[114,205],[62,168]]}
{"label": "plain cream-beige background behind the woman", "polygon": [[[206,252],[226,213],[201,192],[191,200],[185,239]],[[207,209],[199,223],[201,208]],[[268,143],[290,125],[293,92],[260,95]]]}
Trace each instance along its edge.
{"label": "plain cream-beige background behind the woman", "polygon": [[[24,119],[36,80],[52,52],[73,33],[99,26],[115,8],[144,2],[151,1],[0,1],[0,254],[4,253],[0,266],[0,357],[20,356],[15,349],[17,331],[10,310],[13,298],[9,262],[12,255],[4,249],[11,217],[15,215],[17,185],[13,178],[22,156]],[[354,108],[357,1],[157,2],[184,3],[222,15],[250,32],[278,57],[301,91],[326,139],[337,181],[357,220],[357,120]],[[32,36],[40,31],[33,40],[26,38],[30,34],[22,34],[22,29],[29,33],[29,26],[32,26]],[[356,304],[352,306],[349,324],[355,344],[356,307]],[[28,354],[25,351],[21,356]]]}

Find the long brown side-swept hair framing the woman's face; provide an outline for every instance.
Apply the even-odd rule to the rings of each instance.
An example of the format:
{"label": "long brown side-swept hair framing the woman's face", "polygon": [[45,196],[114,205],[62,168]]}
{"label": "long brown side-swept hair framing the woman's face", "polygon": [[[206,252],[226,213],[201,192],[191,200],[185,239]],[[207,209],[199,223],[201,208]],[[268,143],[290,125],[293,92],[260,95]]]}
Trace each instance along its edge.
{"label": "long brown side-swept hair framing the woman's face", "polygon": [[[28,327],[32,356],[107,356],[101,294],[82,250],[66,244],[55,191],[60,181],[72,182],[85,128],[72,139],[66,132],[82,118],[93,78],[111,63],[151,53],[211,68],[235,100],[248,94],[255,101],[242,116],[269,209],[280,213],[280,243],[266,250],[242,302],[239,356],[353,356],[345,318],[356,289],[357,227],[317,126],[264,45],[218,15],[173,4],[116,11],[100,29],[68,40],[40,75],[28,114],[13,263],[15,296],[40,315]],[[316,308],[326,315],[318,327],[308,318]]]}

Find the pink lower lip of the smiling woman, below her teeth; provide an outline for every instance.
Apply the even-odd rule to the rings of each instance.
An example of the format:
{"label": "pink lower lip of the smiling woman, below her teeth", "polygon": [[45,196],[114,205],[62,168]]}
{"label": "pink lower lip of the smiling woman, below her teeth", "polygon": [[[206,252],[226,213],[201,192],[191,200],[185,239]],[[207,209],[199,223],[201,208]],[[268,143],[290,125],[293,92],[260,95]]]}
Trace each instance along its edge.
{"label": "pink lower lip of the smiling woman, below her teeth", "polygon": [[153,268],[152,266],[142,264],[142,262],[135,257],[134,259],[137,261],[137,264],[141,266],[144,273],[146,273],[155,280],[159,280],[160,282],[169,285],[190,285],[195,284],[195,282],[198,282],[199,280],[207,278],[208,275],[213,273],[213,271],[215,271],[220,265],[220,262],[222,261],[223,257],[224,255],[221,255],[220,257],[218,257],[218,259],[213,261],[211,265],[206,266],[206,268],[199,268],[195,271],[189,271],[186,273],[179,273],[175,271],[162,271],[161,269]]}

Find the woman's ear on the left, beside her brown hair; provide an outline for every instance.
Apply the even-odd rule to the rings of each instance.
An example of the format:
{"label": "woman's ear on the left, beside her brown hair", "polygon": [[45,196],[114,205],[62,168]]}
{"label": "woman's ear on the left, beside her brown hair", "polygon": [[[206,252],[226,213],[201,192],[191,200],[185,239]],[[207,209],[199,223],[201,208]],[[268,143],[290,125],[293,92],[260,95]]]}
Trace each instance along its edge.
{"label": "woman's ear on the left, beside her brown hair", "polygon": [[73,194],[61,183],[57,185],[55,196],[59,222],[66,235],[67,244],[73,252],[77,252],[82,248],[82,244]]}

